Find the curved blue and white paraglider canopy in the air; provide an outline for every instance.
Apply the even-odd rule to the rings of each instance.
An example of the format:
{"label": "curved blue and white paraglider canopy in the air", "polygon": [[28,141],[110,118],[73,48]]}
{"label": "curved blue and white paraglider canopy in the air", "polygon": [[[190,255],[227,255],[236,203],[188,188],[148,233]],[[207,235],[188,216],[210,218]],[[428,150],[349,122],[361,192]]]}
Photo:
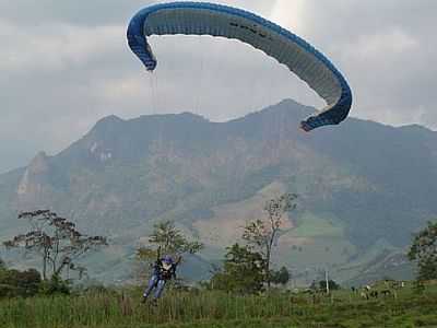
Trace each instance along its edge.
{"label": "curved blue and white paraglider canopy in the air", "polygon": [[130,21],[127,37],[131,50],[153,71],[157,60],[147,36],[175,34],[238,39],[285,65],[327,103],[320,113],[302,121],[305,131],[338,125],[349,115],[352,92],[340,71],[303,38],[261,16],[206,2],[161,3],[140,10]]}

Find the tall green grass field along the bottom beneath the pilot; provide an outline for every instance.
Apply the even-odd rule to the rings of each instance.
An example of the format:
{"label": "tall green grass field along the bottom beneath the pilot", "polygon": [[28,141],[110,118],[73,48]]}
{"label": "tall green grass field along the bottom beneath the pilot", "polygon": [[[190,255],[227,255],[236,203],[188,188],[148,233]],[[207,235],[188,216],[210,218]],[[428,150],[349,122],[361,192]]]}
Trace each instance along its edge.
{"label": "tall green grass field along the bottom beneath the pilot", "polygon": [[175,291],[154,307],[140,304],[140,295],[132,289],[1,300],[0,327],[437,327],[436,285],[373,301],[349,291],[316,297]]}

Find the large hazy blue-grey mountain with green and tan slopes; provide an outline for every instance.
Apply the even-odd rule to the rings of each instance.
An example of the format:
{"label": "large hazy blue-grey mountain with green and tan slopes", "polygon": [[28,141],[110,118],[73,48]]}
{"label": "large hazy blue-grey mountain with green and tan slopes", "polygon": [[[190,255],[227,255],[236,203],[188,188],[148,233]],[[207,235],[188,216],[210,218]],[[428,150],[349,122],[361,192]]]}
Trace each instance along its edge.
{"label": "large hazy blue-grey mountain with green and tan slopes", "polygon": [[93,274],[118,281],[153,223],[169,219],[205,243],[193,259],[202,269],[187,269],[205,277],[245,221],[290,191],[298,207],[275,261],[298,281],[321,267],[343,282],[382,274],[369,268],[388,272],[386,263],[394,276],[397,267],[411,274],[404,258],[402,258],[412,233],[437,213],[437,133],[354,118],[302,132],[298,122],[312,112],[288,99],[227,122],[189,113],[103,118],[59,154],[40,152],[0,175],[0,238],[23,229],[19,211],[54,209],[110,237]]}

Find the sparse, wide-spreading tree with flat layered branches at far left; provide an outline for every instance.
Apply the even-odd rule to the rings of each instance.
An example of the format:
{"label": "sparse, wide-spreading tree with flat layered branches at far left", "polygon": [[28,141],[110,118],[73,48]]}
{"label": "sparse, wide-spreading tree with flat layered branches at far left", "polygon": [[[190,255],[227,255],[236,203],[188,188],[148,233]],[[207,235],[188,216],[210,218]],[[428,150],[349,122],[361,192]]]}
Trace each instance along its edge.
{"label": "sparse, wide-spreading tree with flat layered branches at far left", "polygon": [[3,245],[39,255],[44,280],[51,277],[59,279],[66,269],[78,271],[79,278],[82,278],[86,268],[75,261],[97,247],[107,245],[106,237],[86,236],[76,230],[74,223],[50,210],[23,212],[19,219],[28,220],[31,231]]}

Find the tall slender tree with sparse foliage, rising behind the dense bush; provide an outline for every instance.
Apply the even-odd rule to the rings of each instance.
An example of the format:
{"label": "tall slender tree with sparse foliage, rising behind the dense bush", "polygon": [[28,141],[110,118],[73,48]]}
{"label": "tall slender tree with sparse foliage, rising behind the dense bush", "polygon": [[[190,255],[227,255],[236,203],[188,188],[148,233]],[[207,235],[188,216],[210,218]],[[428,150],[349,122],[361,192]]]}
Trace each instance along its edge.
{"label": "tall slender tree with sparse foliage, rising behind the dense bush", "polygon": [[284,194],[277,198],[271,199],[264,206],[267,218],[248,222],[245,226],[243,239],[262,255],[265,263],[265,281],[268,288],[271,284],[271,257],[273,245],[281,232],[283,215],[296,209],[296,194]]}

